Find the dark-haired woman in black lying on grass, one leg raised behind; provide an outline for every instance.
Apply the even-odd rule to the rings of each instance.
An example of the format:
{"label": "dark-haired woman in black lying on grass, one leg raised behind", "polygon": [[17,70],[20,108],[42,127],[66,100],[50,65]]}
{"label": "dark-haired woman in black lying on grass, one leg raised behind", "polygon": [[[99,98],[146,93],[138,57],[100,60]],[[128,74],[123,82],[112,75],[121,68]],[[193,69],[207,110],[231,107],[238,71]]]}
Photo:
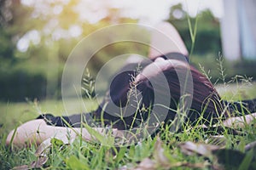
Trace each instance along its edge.
{"label": "dark-haired woman in black lying on grass, one leg raised behind", "polygon": [[[82,127],[84,123],[99,133],[112,127],[113,136],[119,137],[121,130],[140,127],[144,122],[154,127],[177,121],[175,128],[180,129],[188,122],[209,127],[221,122],[231,127],[236,121],[248,123],[253,120],[256,100],[234,103],[222,100],[207,77],[188,64],[188,51],[175,28],[163,23],[158,30],[171,35],[176,45],[162,48],[162,54],[151,48],[150,60],[125,65],[113,78],[108,94],[96,111],[62,117],[38,116],[11,131],[6,144],[40,144],[53,137],[71,140],[80,132],[84,140],[91,141],[93,134]],[[154,35],[152,38],[153,46],[160,42]],[[165,42],[161,43],[166,46]],[[138,65],[141,71],[137,71]],[[128,108],[127,113],[123,112],[125,108]],[[151,117],[154,122],[150,122]]]}

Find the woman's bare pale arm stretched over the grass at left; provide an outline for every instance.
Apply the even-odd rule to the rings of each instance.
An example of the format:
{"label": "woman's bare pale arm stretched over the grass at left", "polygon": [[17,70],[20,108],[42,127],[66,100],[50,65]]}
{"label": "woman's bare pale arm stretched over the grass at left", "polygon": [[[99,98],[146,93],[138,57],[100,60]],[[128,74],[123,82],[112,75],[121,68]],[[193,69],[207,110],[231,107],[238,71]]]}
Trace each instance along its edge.
{"label": "woman's bare pale arm stretched over the grass at left", "polygon": [[[106,134],[106,128],[91,127],[102,135]],[[85,141],[96,141],[93,134],[89,133],[85,127],[55,127],[49,126],[43,119],[32,120],[26,122],[20,127],[12,130],[7,139],[6,144],[14,144],[18,147],[29,146],[31,144],[41,144],[44,140],[49,138],[61,139],[64,143],[72,143],[73,140],[82,132],[82,138]],[[119,132],[112,129],[113,136],[118,137]]]}

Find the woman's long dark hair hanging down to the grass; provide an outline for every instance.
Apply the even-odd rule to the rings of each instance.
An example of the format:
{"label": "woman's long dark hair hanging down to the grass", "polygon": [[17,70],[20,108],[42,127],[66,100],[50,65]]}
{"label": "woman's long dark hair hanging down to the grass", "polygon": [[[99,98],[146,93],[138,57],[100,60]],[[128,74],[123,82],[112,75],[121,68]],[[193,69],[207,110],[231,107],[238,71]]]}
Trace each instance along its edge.
{"label": "woman's long dark hair hanging down to the grass", "polygon": [[[166,59],[166,55],[160,56],[160,58]],[[143,71],[146,71],[149,77],[154,77],[157,80],[160,74],[163,74],[168,83],[167,89],[153,88],[149,80],[150,78],[148,79],[148,77],[141,77],[137,80],[137,77],[143,75],[143,71],[141,73],[136,71],[137,64],[125,65],[124,71],[119,71],[119,74],[113,78],[106,99],[103,100],[102,105],[94,112],[96,118],[103,118],[106,124],[111,123],[113,127],[119,129],[129,128],[131,124],[134,123],[134,119],[137,120],[137,124],[135,123],[133,126],[138,126],[143,119],[148,117],[148,111],[151,111],[152,107],[154,107],[154,91],[157,90],[158,94],[160,94],[163,99],[171,97],[170,105],[166,105],[169,111],[164,122],[172,122],[177,114],[177,105],[183,105],[180,104],[183,94],[181,94],[181,77],[179,77],[178,74],[187,75],[188,71],[190,72],[192,81],[186,83],[189,83],[189,86],[192,87],[191,91],[193,92],[189,94],[188,97],[191,99],[191,104],[189,105],[189,110],[187,110],[186,119],[191,123],[195,123],[201,117],[201,123],[210,124],[218,122],[219,116],[226,116],[223,102],[207,77],[202,75],[201,72],[197,71],[193,66],[187,65],[183,61],[176,60],[179,65],[173,65],[173,62],[168,63],[167,60],[160,63],[160,71],[155,71],[152,68],[146,69],[150,64],[148,61],[144,61],[140,64],[140,67],[144,68]],[[162,83],[161,80],[157,81],[158,84]],[[136,82],[135,86],[137,91],[139,91],[142,96],[139,107],[140,113],[135,114],[134,112],[134,114],[129,116],[120,116],[119,111],[109,109],[111,107],[108,107],[109,101],[113,101],[114,105],[121,108],[132,105],[131,100],[133,99],[128,98],[129,91],[131,91],[134,82]],[[171,96],[166,95],[168,94],[166,90],[170,91]]]}

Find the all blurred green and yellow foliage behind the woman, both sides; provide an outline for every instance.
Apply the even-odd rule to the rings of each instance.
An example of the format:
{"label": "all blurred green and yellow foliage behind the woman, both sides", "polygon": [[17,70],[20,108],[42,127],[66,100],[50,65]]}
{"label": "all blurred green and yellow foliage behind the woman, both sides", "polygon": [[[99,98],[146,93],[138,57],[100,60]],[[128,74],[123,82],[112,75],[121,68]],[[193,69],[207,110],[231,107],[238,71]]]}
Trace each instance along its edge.
{"label": "all blurred green and yellow foliage behind the woman, both sides", "polygon": [[[24,6],[20,1],[0,1],[0,100],[24,101],[29,99],[60,99],[61,98],[61,73],[68,55],[81,38],[105,26],[119,23],[137,23],[136,19],[124,18],[118,8],[108,8],[108,17],[95,24],[79,20],[78,12],[72,10],[76,1],[67,4],[49,3],[49,11],[33,16],[35,8]],[[61,5],[60,14],[53,14],[53,8]],[[182,13],[182,17],[175,18],[174,11]],[[222,52],[220,41],[219,20],[212,16],[210,11],[197,14],[198,26],[196,30],[195,49],[190,56],[193,65],[204,65],[206,70],[212,71],[212,81],[219,77],[216,59]],[[79,37],[54,39],[54,29],[49,34],[44,34],[44,29],[49,21],[58,20],[58,26],[67,30],[69,26],[82,27]],[[191,19],[195,21],[194,18]],[[187,48],[191,48],[188,20],[180,4],[170,8],[168,19],[180,32]],[[38,31],[41,39],[38,44],[30,42],[26,52],[16,48],[17,42],[29,31]],[[129,32],[127,32],[129,34]],[[126,54],[127,51],[140,51],[147,55],[148,47],[137,44],[113,44],[102,49],[90,62],[90,72],[96,71],[112,57]],[[253,71],[255,62],[238,61],[224,63],[228,77],[236,74],[255,77]]]}

